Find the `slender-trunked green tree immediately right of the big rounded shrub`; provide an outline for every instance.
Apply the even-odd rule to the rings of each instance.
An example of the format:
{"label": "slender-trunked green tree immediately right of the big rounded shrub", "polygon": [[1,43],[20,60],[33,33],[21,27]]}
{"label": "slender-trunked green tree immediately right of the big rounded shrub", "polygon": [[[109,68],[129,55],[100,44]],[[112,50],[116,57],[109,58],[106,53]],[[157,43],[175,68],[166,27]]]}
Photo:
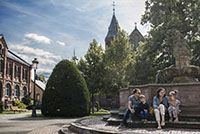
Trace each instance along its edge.
{"label": "slender-trunked green tree immediately right of the big rounded shrub", "polygon": [[81,59],[78,68],[86,79],[87,86],[91,95],[92,112],[94,113],[94,95],[102,90],[103,81],[103,48],[98,46],[96,40],[90,43],[90,47],[85,55],[85,61]]}

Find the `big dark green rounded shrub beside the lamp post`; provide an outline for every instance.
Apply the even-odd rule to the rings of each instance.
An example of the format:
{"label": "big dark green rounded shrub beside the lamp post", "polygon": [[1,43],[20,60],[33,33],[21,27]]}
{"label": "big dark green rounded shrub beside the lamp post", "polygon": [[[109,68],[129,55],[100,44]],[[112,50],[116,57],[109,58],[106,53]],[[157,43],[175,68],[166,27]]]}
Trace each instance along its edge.
{"label": "big dark green rounded shrub beside the lamp post", "polygon": [[62,60],[48,79],[42,97],[44,116],[81,117],[89,114],[89,92],[75,64]]}

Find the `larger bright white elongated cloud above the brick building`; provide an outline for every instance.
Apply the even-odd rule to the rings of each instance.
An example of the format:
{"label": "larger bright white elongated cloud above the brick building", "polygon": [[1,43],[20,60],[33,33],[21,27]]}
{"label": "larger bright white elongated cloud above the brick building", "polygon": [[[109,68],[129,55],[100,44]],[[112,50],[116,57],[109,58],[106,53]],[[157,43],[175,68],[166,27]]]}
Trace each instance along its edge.
{"label": "larger bright white elongated cloud above the brick building", "polygon": [[25,34],[25,39],[31,42],[45,43],[45,44],[51,44],[52,42],[51,39],[34,33]]}

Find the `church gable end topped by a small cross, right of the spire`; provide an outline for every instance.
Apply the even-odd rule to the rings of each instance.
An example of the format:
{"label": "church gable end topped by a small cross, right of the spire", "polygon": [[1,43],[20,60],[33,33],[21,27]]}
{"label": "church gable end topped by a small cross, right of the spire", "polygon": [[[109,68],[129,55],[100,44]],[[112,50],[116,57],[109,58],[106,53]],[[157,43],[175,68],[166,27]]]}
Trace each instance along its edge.
{"label": "church gable end topped by a small cross, right of the spire", "polygon": [[137,29],[137,23],[135,23],[135,29],[133,30],[133,32],[130,34],[130,43],[131,43],[131,47],[133,48],[133,50],[136,50],[138,47],[138,43],[140,41],[144,42],[144,37],[143,35],[140,33],[140,31]]}

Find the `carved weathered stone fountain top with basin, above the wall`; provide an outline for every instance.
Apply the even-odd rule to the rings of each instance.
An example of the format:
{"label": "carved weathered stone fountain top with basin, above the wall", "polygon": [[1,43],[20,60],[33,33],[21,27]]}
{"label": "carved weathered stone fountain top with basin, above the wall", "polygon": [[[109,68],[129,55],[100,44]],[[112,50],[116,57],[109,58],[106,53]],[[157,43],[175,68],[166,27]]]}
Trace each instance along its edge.
{"label": "carved weathered stone fountain top with basin, above the wall", "polygon": [[173,55],[176,65],[159,70],[156,75],[156,83],[198,82],[200,68],[190,65],[190,48],[180,32],[177,32],[173,43]]}

